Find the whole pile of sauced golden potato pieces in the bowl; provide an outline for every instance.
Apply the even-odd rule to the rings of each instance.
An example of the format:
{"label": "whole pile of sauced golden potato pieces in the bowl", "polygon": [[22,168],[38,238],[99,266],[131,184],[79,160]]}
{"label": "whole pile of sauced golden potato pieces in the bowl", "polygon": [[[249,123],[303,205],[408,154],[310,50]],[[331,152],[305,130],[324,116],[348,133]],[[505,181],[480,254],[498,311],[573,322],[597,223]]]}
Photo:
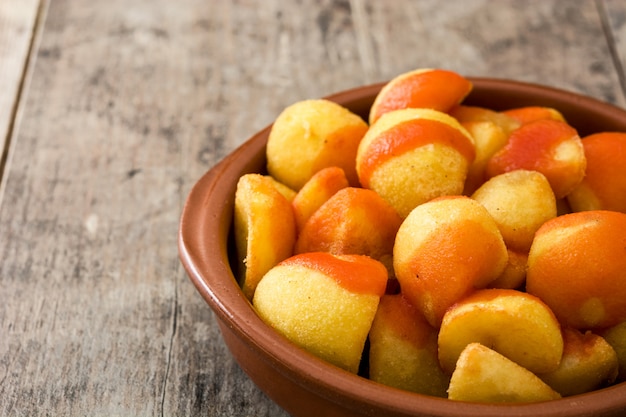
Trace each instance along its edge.
{"label": "whole pile of sauced golden potato pieces in the bowl", "polygon": [[463,104],[442,69],[391,80],[366,122],[287,107],[267,174],[237,185],[241,287],[259,316],[407,391],[532,402],[626,379],[626,133],[558,109]]}

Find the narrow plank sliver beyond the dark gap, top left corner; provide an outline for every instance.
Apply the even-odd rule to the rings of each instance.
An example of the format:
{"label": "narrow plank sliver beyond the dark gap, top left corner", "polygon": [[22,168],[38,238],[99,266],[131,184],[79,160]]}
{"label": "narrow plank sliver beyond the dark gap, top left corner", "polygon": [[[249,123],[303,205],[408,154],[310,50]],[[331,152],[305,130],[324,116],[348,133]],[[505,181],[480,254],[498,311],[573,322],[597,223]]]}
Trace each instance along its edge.
{"label": "narrow plank sliver beyond the dark gap, top left corner", "polygon": [[38,13],[39,0],[0,2],[0,179]]}

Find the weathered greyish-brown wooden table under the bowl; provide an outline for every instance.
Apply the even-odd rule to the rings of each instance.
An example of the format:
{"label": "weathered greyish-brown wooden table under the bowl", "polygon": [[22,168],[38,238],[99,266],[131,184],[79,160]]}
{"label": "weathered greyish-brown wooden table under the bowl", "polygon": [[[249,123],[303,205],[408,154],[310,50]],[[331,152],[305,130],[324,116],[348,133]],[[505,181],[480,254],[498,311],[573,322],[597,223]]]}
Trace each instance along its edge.
{"label": "weathered greyish-brown wooden table under the bowl", "polygon": [[177,255],[287,105],[420,67],[626,106],[623,0],[2,0],[0,415],[279,416]]}

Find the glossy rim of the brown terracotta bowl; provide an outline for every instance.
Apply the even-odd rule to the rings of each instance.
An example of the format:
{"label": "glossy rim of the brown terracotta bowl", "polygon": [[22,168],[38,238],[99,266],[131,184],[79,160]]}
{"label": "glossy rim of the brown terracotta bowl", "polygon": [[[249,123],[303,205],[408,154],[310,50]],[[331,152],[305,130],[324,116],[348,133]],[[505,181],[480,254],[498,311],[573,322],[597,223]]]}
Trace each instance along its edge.
{"label": "glossy rim of the brown terracotta bowl", "polygon": [[[595,109],[595,112],[615,119],[616,124],[622,124],[626,128],[625,110],[592,97],[521,81],[468,78],[474,84],[473,91],[478,94],[505,91],[512,100],[519,95],[537,95],[541,97],[542,103],[573,102],[576,107],[585,111]],[[346,104],[355,95],[361,98],[373,97],[384,84],[356,87],[324,98]],[[178,249],[189,278],[213,312],[240,337],[245,335],[249,338],[253,342],[251,347],[267,357],[277,371],[295,384],[318,392],[329,401],[340,402],[347,408],[366,402],[372,407],[397,415],[411,415],[419,410],[425,415],[441,417],[496,417],[503,414],[531,417],[592,415],[624,410],[624,400],[620,400],[626,393],[624,383],[558,400],[528,404],[470,403],[411,393],[376,383],[326,363],[298,348],[265,324],[241,292],[230,267],[228,245],[220,242],[226,242],[229,236],[234,199],[234,186],[224,179],[241,175],[242,167],[237,161],[249,154],[257,157],[248,161],[243,167],[243,173],[256,171],[255,167],[264,161],[264,149],[271,126],[266,126],[224,157],[192,187],[182,209]],[[220,205],[223,213],[212,210],[214,205]],[[224,221],[216,221],[220,218]],[[199,225],[202,233],[198,232]],[[218,252],[217,257],[215,251]],[[211,253],[213,256],[209,256]],[[216,259],[218,262],[215,262]],[[332,383],[328,378],[329,373],[333,374]],[[600,409],[599,404],[602,404]]]}

